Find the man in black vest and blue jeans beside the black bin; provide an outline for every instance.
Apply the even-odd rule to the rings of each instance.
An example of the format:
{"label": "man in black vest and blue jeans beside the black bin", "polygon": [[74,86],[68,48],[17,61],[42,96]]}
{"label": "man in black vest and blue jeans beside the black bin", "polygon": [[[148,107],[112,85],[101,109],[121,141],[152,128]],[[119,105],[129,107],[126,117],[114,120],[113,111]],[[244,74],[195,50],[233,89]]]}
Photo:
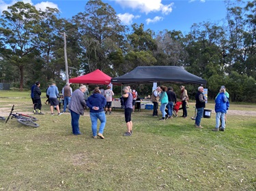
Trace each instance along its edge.
{"label": "man in black vest and blue jeans beside the black bin", "polygon": [[195,127],[203,128],[201,126],[201,118],[203,117],[203,110],[205,107],[205,97],[203,96],[203,86],[198,87],[197,94],[195,95],[195,107],[197,108],[197,117],[195,118]]}

